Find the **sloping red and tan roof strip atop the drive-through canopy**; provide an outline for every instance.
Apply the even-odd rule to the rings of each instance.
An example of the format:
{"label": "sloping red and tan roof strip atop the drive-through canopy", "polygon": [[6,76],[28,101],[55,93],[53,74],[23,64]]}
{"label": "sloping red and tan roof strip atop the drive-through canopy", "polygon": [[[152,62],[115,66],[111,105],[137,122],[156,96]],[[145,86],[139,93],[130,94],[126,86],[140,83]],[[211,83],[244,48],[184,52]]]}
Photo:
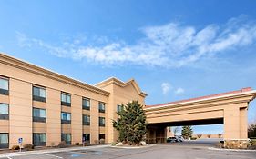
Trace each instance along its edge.
{"label": "sloping red and tan roof strip atop the drive-through canopy", "polygon": [[146,105],[145,108],[158,108],[158,107],[170,106],[170,105],[175,105],[175,104],[192,103],[192,102],[198,102],[198,101],[209,100],[209,99],[214,99],[214,98],[220,98],[220,97],[229,96],[229,95],[248,93],[248,92],[252,92],[252,91],[253,90],[251,89],[251,87],[247,87],[247,88],[242,88],[241,90],[230,91],[227,93],[210,94],[210,95],[206,95],[206,96],[200,96],[200,97],[196,97],[196,98],[179,100],[179,101],[169,102],[169,103],[165,103],[165,104]]}

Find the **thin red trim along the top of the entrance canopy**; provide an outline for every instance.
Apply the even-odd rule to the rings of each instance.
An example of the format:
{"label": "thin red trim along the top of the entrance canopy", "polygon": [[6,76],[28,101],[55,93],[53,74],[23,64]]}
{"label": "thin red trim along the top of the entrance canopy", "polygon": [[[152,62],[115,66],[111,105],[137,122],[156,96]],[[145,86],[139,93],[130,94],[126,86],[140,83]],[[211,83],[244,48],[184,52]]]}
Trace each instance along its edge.
{"label": "thin red trim along the top of the entrance canopy", "polygon": [[242,88],[241,90],[231,91],[231,92],[227,92],[227,93],[210,94],[210,95],[206,95],[206,96],[200,96],[200,97],[196,97],[196,98],[179,100],[179,101],[169,102],[169,103],[165,103],[165,104],[146,105],[146,108],[155,107],[155,106],[163,106],[163,105],[168,105],[168,104],[179,104],[179,103],[184,103],[184,102],[197,101],[197,100],[201,100],[201,99],[207,99],[207,98],[210,98],[210,97],[218,97],[218,96],[228,95],[228,94],[238,94],[238,93],[242,93],[242,92],[248,92],[248,91],[251,91],[251,90],[252,90],[251,87],[246,87],[246,88]]}

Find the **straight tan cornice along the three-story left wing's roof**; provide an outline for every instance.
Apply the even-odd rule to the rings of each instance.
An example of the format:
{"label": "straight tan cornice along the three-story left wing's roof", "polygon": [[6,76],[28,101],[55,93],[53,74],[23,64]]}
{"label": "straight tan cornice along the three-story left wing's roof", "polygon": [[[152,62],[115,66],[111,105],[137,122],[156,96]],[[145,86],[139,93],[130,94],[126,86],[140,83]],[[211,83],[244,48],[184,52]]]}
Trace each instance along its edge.
{"label": "straight tan cornice along the three-story left wing's roof", "polygon": [[97,88],[94,85],[90,84],[85,84],[81,81],[78,81],[76,79],[67,77],[66,75],[60,75],[58,73],[55,73],[53,71],[47,70],[46,68],[32,65],[28,62],[25,62],[24,60],[17,59],[13,56],[7,55],[5,53],[0,52],[0,63],[5,64],[5,65],[11,65],[15,66],[16,68],[25,70],[27,72],[31,72],[36,75],[43,75],[48,78],[54,79],[58,82],[65,83],[65,84],[72,84],[77,87],[81,87],[83,89],[86,89],[91,92],[95,92],[97,94],[102,94],[108,96],[110,93],[102,90],[100,88]]}

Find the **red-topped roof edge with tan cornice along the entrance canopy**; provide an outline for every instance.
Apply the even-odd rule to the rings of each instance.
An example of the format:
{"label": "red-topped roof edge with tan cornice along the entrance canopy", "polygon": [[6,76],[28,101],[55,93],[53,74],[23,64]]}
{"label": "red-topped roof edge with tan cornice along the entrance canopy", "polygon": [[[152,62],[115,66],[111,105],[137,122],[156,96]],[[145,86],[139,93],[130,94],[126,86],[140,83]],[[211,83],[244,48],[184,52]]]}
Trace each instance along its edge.
{"label": "red-topped roof edge with tan cornice along the entrance canopy", "polygon": [[[191,98],[191,100],[189,100],[189,99],[186,100],[186,101],[183,100],[184,102],[177,101],[177,103],[173,102],[173,103],[167,103],[167,104],[146,105],[144,107],[144,109],[145,110],[160,109],[160,108],[167,107],[167,106],[175,106],[175,105],[179,105],[179,104],[192,104],[192,103],[204,102],[204,101],[208,101],[208,100],[220,99],[220,98],[225,98],[225,97],[239,96],[239,95],[243,95],[243,94],[253,94],[251,100],[253,100],[256,97],[256,90],[250,90],[250,91],[242,92],[242,89],[241,89],[240,91],[241,92],[238,92],[238,93],[233,93],[233,94],[225,94],[224,93],[222,95],[210,96],[210,97],[205,97],[205,98],[202,98],[202,99]],[[217,95],[217,94],[213,94],[213,95]]]}

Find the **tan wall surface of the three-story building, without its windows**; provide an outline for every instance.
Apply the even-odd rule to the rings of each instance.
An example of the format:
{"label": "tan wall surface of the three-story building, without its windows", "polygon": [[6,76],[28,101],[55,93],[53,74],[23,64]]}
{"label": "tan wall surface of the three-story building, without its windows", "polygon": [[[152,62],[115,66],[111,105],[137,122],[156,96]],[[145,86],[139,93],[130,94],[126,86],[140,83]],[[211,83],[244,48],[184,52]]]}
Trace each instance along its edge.
{"label": "tan wall surface of the three-story building, without its windows", "polygon": [[[117,91],[113,91],[112,85],[113,89],[108,92],[2,54],[0,76],[9,78],[9,95],[0,94],[0,103],[9,104],[9,120],[0,119],[0,133],[9,134],[9,147],[18,144],[20,137],[23,144],[33,144],[33,133],[46,134],[47,146],[59,144],[61,134],[71,134],[71,144],[82,144],[83,134],[90,134],[91,144],[98,142],[99,134],[105,134],[106,142],[111,143],[113,112],[116,113],[117,104],[125,104],[139,96],[135,88],[129,86],[131,84],[115,88]],[[33,85],[46,88],[46,102],[32,99]],[[70,107],[61,105],[61,92],[71,94]],[[113,102],[116,94],[120,96]],[[90,110],[82,109],[83,97],[90,99]],[[144,98],[139,98],[142,104]],[[99,113],[99,102],[105,103],[105,113]],[[46,109],[46,123],[33,122],[33,107]],[[71,124],[61,124],[62,111],[71,113]],[[83,125],[83,114],[90,115],[90,125]],[[99,126],[99,117],[105,117],[105,127]]]}

